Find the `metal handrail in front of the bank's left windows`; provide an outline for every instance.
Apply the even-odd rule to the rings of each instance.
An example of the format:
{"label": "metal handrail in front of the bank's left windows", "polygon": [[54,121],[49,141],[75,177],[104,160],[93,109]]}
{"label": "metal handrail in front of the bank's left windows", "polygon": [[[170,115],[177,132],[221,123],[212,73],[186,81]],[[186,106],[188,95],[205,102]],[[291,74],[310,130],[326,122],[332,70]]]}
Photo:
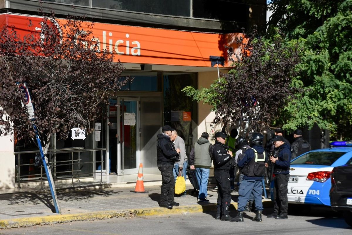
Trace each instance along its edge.
{"label": "metal handrail in front of the bank's left windows", "polygon": [[[100,159],[101,161],[89,161],[89,162],[82,162],[82,159],[80,159],[80,155],[82,152],[95,152],[95,151],[100,151]],[[96,149],[84,149],[83,147],[74,147],[74,148],[64,148],[64,149],[50,149],[48,150],[47,155],[56,155],[56,154],[63,154],[63,153],[70,153],[70,158],[71,160],[64,160],[64,161],[56,161],[56,157],[54,157],[54,161],[50,162],[49,165],[51,167],[51,170],[54,171],[54,181],[56,180],[56,174],[62,174],[62,173],[69,173],[71,172],[71,180],[72,180],[72,185],[74,185],[74,179],[76,176],[76,179],[78,179],[78,181],[80,181],[80,175],[82,174],[94,174],[94,173],[98,173],[95,170],[93,170],[92,172],[84,172],[81,173],[81,168],[80,168],[80,164],[86,164],[86,163],[100,163],[101,168],[100,168],[100,183],[102,183],[102,173],[103,173],[103,164],[104,164],[104,160],[103,160],[103,151],[106,152],[106,148],[96,148]],[[17,168],[17,177],[15,177],[15,179],[17,179],[17,183],[18,183],[18,188],[21,187],[21,179],[20,177],[30,177],[30,176],[34,176],[37,177],[40,175],[40,188],[41,190],[43,190],[43,166],[39,166],[40,167],[40,174],[28,174],[28,175],[20,175],[20,167],[21,166],[31,166],[31,165],[35,165],[34,163],[29,163],[29,164],[19,164],[20,163],[20,155],[21,154],[28,154],[28,153],[39,153],[39,150],[32,150],[32,151],[17,151],[14,152],[14,154],[18,155],[18,164],[15,165]],[[78,153],[78,159],[74,159],[74,153]],[[70,163],[67,163],[70,162]],[[59,163],[59,164],[57,164]],[[61,163],[61,164],[60,164]],[[64,163],[64,164],[62,164]],[[60,172],[56,172],[56,167],[57,166],[68,166],[71,165],[71,170],[70,171],[60,171]],[[74,170],[74,165],[78,165],[78,169]],[[106,169],[105,169],[106,170]],[[60,179],[62,178],[68,178],[69,175],[62,175],[60,176]],[[15,182],[16,183],[16,182]]]}

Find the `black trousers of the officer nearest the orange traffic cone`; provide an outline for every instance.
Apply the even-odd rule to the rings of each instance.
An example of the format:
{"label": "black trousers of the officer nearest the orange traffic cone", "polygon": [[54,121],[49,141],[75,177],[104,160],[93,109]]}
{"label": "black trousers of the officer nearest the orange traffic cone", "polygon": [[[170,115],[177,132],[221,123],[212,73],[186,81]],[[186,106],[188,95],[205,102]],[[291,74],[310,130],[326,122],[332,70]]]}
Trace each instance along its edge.
{"label": "black trousers of the officer nearest the orange traffic cone", "polygon": [[174,173],[172,172],[173,167],[173,165],[169,164],[158,165],[162,176],[160,193],[160,203],[162,204],[174,202],[175,179]]}

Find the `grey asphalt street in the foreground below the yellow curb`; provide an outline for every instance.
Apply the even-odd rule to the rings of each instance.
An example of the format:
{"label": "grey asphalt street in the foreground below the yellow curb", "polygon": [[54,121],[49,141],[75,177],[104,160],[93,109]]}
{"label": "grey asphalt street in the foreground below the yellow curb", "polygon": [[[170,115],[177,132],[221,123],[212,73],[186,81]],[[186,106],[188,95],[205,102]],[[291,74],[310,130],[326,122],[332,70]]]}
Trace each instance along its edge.
{"label": "grey asphalt street in the foreground below the yellow curb", "polygon": [[[290,208],[291,209],[291,208]],[[293,210],[291,209],[291,212]],[[271,209],[264,209],[267,215]],[[233,211],[232,215],[235,214]],[[99,221],[76,221],[64,224],[33,226],[0,230],[6,235],[87,235],[87,234],[241,234],[241,235],[350,235],[352,229],[340,217],[325,208],[307,214],[306,210],[289,213],[288,219],[269,219],[263,223],[251,221],[253,212],[246,212],[244,223],[219,221],[215,213],[184,213],[175,215],[112,218]]]}

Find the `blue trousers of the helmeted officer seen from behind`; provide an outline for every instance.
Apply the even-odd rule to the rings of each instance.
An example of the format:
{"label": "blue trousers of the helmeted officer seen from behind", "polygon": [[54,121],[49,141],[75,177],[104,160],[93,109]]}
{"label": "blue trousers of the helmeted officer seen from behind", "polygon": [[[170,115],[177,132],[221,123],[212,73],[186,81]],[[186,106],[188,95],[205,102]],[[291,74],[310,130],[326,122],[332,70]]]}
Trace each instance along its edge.
{"label": "blue trousers of the helmeted officer seen from behind", "polygon": [[247,202],[250,199],[251,194],[253,193],[254,202],[256,203],[256,210],[263,210],[262,203],[262,180],[248,180],[243,179],[238,190],[238,211],[244,211]]}

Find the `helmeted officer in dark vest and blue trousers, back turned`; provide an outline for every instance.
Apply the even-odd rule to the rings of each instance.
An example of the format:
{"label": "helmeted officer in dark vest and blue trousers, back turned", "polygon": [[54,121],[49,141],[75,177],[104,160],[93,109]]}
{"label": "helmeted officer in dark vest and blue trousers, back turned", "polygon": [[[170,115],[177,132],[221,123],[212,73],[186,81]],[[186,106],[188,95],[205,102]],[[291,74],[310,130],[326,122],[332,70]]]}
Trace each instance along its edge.
{"label": "helmeted officer in dark vest and blue trousers, back turned", "polygon": [[253,221],[262,222],[262,180],[265,169],[265,151],[262,146],[264,136],[257,132],[249,134],[251,149],[248,149],[243,159],[238,162],[238,167],[242,167],[243,180],[238,190],[238,214],[234,218],[235,222],[243,222],[243,211],[253,192],[256,217]]}

